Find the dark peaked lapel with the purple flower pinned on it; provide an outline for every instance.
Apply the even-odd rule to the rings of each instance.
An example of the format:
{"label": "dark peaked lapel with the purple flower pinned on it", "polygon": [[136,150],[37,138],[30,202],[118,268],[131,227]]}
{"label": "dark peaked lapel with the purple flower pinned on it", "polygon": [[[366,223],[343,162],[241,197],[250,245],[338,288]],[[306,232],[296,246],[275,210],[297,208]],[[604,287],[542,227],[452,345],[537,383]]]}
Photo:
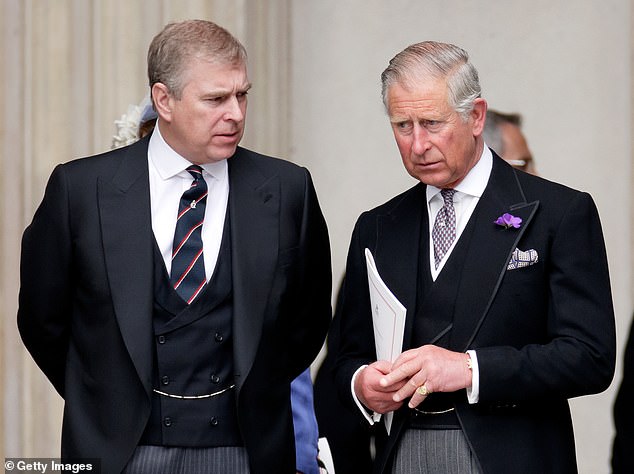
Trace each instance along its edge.
{"label": "dark peaked lapel with the purple flower pinned on it", "polygon": [[[454,350],[466,350],[473,342],[506,274],[513,250],[539,206],[538,201],[526,202],[511,166],[496,156],[493,163],[489,183],[468,224],[473,228],[454,313]],[[505,212],[522,218],[519,229],[494,224]]]}

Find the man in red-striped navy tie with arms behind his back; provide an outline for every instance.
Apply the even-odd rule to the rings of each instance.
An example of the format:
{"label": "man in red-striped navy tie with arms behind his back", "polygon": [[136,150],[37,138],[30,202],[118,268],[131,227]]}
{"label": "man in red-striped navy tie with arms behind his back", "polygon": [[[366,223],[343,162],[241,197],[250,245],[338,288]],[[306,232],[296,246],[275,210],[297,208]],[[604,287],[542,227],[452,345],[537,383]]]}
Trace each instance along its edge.
{"label": "man in red-striped navy tie with arms behind his back", "polygon": [[148,73],[152,135],[59,165],[23,238],[18,323],[65,401],[62,456],[293,473],[290,383],[330,321],[310,175],[238,147],[250,83],[223,28],[167,25]]}

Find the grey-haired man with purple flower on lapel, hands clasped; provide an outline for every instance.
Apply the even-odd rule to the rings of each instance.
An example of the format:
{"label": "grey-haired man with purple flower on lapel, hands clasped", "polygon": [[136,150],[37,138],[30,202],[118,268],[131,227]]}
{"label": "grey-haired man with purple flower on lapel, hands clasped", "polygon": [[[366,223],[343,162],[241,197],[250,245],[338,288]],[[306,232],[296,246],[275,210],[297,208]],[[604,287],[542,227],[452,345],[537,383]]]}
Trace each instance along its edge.
{"label": "grey-haired man with purple flower on lapel, hands clasped", "polygon": [[[487,104],[464,50],[412,45],[382,83],[420,182],[357,221],[337,363],[360,416],[395,411],[375,470],[576,472],[568,399],[604,390],[615,362],[595,205],[485,146]],[[376,360],[365,249],[407,309],[393,363]]]}

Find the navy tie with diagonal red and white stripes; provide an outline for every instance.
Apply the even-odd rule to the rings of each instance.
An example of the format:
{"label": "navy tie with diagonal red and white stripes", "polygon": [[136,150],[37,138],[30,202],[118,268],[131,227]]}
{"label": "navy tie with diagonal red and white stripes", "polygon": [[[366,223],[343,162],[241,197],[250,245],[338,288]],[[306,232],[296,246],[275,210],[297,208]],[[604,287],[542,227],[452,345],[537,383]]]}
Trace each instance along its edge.
{"label": "navy tie with diagonal red and white stripes", "polygon": [[193,176],[194,181],[183,193],[178,207],[170,282],[179,296],[190,304],[207,284],[201,237],[207,183],[200,166],[192,165],[187,171]]}

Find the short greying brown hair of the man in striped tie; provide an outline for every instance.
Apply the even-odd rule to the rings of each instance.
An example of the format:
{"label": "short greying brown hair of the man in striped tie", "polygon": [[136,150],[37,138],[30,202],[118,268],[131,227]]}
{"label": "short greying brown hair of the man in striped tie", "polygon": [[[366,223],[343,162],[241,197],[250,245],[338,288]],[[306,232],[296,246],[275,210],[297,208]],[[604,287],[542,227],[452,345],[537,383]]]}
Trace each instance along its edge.
{"label": "short greying brown hair of the man in striped tie", "polygon": [[169,23],[158,33],[148,49],[150,88],[165,84],[177,99],[185,84],[184,72],[194,59],[227,64],[246,64],[244,46],[227,30],[207,20]]}

